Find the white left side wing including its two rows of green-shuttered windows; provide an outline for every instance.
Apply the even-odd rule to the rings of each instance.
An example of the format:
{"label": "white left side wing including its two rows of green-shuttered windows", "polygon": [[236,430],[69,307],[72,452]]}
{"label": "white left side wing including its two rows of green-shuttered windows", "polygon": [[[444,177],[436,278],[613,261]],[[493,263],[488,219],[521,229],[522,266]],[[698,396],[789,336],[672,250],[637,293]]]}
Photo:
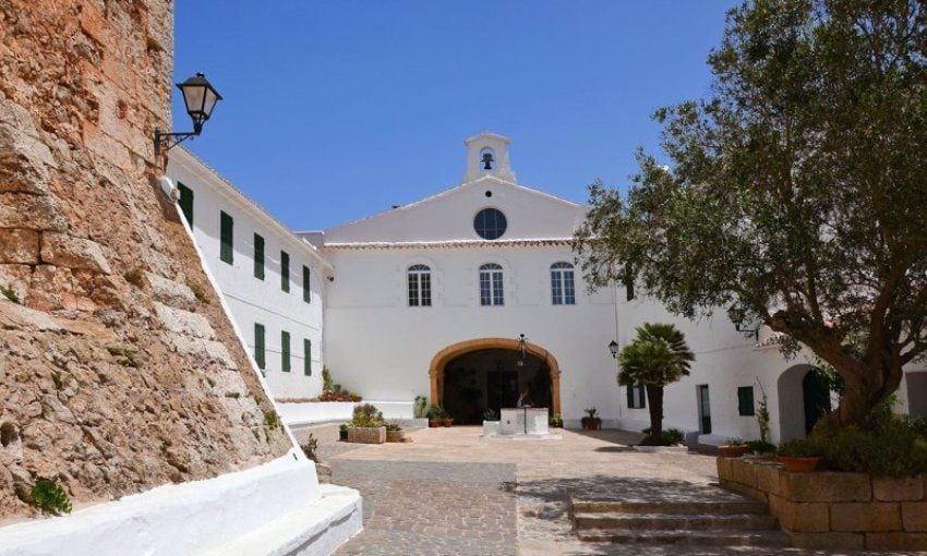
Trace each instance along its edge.
{"label": "white left side wing including its two rows of green-shuttered windows", "polygon": [[170,152],[167,173],[274,396],[316,396],[322,389],[323,305],[332,265],[189,150]]}

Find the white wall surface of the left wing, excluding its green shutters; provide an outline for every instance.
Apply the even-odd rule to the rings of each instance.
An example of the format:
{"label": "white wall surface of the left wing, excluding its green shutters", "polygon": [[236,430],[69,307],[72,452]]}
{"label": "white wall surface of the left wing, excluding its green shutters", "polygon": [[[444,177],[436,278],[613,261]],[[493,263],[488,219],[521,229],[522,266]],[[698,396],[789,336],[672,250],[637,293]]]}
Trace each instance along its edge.
{"label": "white wall surface of the left wing, excluding its green shutters", "polygon": [[[168,176],[194,192],[193,232],[219,282],[239,328],[254,353],[254,324],[265,328],[264,374],[275,398],[310,398],[322,391],[325,277],[330,274],[314,249],[281,233],[270,217],[182,149],[171,152]],[[234,220],[233,264],[219,258],[219,213]],[[254,277],[254,233],[264,238],[264,279]],[[280,287],[280,251],[290,255],[290,291]],[[302,267],[310,268],[311,301],[303,301]],[[290,334],[291,371],[282,371],[281,331]],[[312,342],[312,375],[304,374],[303,339]]]}

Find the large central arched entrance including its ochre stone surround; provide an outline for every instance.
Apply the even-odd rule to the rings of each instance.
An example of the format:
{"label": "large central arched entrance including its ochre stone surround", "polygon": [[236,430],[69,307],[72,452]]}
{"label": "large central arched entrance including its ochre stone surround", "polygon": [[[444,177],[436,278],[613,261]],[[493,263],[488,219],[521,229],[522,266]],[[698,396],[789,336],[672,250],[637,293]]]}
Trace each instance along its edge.
{"label": "large central arched entrance including its ochre stone surround", "polygon": [[486,407],[510,407],[514,384],[516,399],[517,390],[527,387],[532,401],[534,398],[538,398],[535,403],[549,400],[553,412],[559,413],[561,372],[557,360],[547,350],[526,342],[526,358],[523,364],[518,365],[520,349],[521,345],[516,339],[480,338],[441,350],[429,368],[432,403],[445,407],[458,419],[446,407],[447,402],[456,404],[461,421],[478,422]]}

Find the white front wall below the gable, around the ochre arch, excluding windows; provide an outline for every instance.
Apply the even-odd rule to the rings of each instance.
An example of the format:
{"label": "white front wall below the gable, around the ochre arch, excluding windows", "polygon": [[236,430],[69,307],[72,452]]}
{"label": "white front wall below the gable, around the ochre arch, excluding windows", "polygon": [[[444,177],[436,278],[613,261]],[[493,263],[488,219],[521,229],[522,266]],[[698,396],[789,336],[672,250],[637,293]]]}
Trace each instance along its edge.
{"label": "white front wall below the gable, around the ochre arch, excluding windows", "polygon": [[[564,419],[597,407],[618,418],[611,290],[588,295],[577,283],[576,305],[553,305],[550,267],[571,261],[568,245],[537,247],[359,250],[330,254],[337,273],[328,288],[326,333],[333,377],[365,399],[411,401],[430,396],[429,366],[442,349],[489,337],[544,348],[561,368]],[[406,269],[432,268],[431,307],[407,306]],[[505,273],[505,305],[481,306],[479,267]]]}

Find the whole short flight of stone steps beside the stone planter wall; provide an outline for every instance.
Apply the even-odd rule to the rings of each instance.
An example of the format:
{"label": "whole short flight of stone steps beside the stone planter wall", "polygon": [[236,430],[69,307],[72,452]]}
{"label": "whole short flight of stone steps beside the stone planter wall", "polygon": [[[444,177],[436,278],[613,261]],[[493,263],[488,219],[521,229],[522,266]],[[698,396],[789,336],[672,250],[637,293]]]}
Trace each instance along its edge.
{"label": "whole short flight of stone steps beside the stone planter wall", "polygon": [[[701,491],[701,492],[700,492]],[[709,485],[653,492],[651,499],[570,493],[570,518],[581,541],[635,545],[784,547],[765,504]]]}

